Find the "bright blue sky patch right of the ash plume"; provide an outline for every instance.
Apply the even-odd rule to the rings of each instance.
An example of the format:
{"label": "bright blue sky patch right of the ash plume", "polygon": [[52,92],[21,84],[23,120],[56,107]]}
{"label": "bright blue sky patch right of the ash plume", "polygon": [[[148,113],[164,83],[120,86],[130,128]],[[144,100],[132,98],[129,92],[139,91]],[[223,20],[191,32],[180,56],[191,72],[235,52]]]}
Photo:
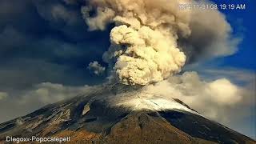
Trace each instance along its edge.
{"label": "bright blue sky patch right of the ash plume", "polygon": [[214,0],[218,4],[246,4],[246,10],[221,10],[226,15],[227,21],[230,22],[234,30],[234,35],[242,38],[238,46],[238,52],[226,58],[218,58],[220,66],[233,66],[242,69],[256,70],[256,42],[255,42],[255,1],[238,0],[222,1]]}

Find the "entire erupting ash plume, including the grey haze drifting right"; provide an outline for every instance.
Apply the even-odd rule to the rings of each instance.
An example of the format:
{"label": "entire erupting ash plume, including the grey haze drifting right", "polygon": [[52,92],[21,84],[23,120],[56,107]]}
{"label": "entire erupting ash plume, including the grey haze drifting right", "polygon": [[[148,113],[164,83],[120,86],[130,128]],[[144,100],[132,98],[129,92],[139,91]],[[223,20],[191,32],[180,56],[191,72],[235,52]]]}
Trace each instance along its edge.
{"label": "entire erupting ash plume, including the grey haze drifting right", "polygon": [[115,25],[103,60],[118,82],[161,82],[178,73],[186,57],[192,61],[234,53],[237,42],[230,41],[231,27],[221,13],[179,10],[182,2],[191,1],[91,0],[82,7],[89,30]]}

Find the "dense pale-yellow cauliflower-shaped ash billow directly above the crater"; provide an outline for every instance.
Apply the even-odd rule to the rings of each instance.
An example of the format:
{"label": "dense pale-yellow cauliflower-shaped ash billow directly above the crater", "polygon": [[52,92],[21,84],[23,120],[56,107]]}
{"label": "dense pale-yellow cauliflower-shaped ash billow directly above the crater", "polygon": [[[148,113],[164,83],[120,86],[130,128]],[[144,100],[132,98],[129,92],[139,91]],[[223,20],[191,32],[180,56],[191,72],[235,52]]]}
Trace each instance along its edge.
{"label": "dense pale-yellow cauliflower-shaped ash billow directly above the crater", "polygon": [[174,39],[148,26],[138,30],[126,25],[114,27],[110,42],[110,49],[103,59],[115,62],[115,73],[124,84],[160,82],[179,72],[186,61],[185,54],[177,48]]}

